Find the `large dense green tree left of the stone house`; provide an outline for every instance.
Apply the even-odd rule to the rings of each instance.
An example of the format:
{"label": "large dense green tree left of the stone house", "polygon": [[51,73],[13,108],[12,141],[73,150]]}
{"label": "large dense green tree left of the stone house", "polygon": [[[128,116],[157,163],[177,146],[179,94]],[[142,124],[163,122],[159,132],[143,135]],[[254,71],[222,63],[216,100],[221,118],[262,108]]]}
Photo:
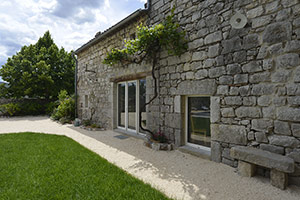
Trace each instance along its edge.
{"label": "large dense green tree left of the stone house", "polygon": [[47,31],[36,44],[23,46],[2,66],[0,76],[8,85],[0,85],[0,96],[54,100],[62,89],[73,93],[74,68],[71,53],[59,49]]}

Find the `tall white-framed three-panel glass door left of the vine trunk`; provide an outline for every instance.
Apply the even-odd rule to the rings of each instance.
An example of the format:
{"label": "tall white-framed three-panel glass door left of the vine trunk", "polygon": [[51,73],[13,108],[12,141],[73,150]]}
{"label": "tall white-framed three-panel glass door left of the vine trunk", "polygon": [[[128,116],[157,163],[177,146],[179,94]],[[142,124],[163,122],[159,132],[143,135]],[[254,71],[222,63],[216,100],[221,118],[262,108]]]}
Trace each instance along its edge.
{"label": "tall white-framed three-panel glass door left of the vine trunk", "polygon": [[145,97],[146,95],[145,85],[145,79],[118,84],[118,128],[139,132],[139,110],[140,105],[144,103],[143,98],[141,101],[141,96]]}

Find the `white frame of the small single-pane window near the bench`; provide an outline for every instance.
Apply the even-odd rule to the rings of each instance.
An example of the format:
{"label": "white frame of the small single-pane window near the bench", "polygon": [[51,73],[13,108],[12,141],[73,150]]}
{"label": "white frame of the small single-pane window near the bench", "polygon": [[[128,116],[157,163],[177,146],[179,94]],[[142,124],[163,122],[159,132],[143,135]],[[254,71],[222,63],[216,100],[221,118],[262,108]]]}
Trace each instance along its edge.
{"label": "white frame of the small single-pane window near the bench", "polygon": [[189,125],[189,122],[188,122],[188,98],[189,97],[209,97],[210,98],[210,96],[207,96],[207,95],[187,95],[187,96],[185,96],[185,116],[184,116],[184,118],[185,118],[185,130],[184,130],[184,132],[185,132],[185,145],[186,146],[190,146],[190,147],[193,147],[193,148],[197,148],[197,149],[200,149],[200,150],[204,150],[204,151],[211,151],[211,148],[209,148],[209,147],[206,147],[206,146],[202,146],[202,145],[199,145],[199,144],[194,144],[194,143],[189,143],[188,142],[188,125]]}

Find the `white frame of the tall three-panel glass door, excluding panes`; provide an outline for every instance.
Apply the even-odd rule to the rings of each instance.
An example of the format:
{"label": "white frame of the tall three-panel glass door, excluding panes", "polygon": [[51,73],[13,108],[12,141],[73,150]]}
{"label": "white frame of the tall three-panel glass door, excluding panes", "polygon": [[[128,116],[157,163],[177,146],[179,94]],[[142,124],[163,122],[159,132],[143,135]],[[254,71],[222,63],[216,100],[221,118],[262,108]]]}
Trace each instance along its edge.
{"label": "white frame of the tall three-panel glass door, excluding panes", "polygon": [[[128,128],[128,83],[136,83],[136,114],[135,114],[135,130]],[[119,126],[119,116],[117,116],[117,128],[127,131],[129,133],[140,134],[145,136],[144,133],[140,132],[140,80],[123,81],[117,83],[117,115],[119,115],[119,84],[125,83],[125,127]]]}

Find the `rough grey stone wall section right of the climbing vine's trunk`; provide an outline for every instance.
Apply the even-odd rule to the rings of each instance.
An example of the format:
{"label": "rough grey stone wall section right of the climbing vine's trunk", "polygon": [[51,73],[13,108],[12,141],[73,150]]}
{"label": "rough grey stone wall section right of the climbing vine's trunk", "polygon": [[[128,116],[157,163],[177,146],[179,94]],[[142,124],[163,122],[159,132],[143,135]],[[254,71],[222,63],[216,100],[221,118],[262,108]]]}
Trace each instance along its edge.
{"label": "rough grey stone wall section right of the climbing vine's trunk", "polygon": [[[150,24],[175,5],[189,40],[181,57],[161,53],[153,127],[185,144],[184,97],[210,96],[212,160],[236,166],[230,148],[253,146],[293,158],[291,180],[299,184],[300,1],[151,2]],[[247,17],[242,29],[229,23],[236,12]]]}

